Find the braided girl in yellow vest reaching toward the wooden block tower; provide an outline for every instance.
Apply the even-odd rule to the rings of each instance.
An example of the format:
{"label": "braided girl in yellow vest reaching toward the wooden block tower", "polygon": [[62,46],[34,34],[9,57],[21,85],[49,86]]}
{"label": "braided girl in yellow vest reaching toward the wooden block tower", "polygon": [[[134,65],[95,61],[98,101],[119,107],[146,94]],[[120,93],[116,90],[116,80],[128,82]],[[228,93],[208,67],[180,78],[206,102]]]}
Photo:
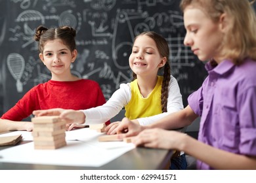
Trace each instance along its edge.
{"label": "braided girl in yellow vest reaching toward the wooden block tower", "polygon": [[[120,88],[104,105],[86,110],[62,108],[36,110],[33,114],[35,116],[60,115],[60,118],[74,122],[70,125],[71,130],[74,127],[80,127],[81,124],[107,122],[125,107],[125,117],[129,120],[140,125],[152,124],[167,114],[183,108],[179,85],[171,76],[168,58],[167,41],[153,31],[143,32],[135,37],[129,57],[134,80],[127,84],[120,84]],[[161,68],[163,68],[163,76],[158,75]],[[106,132],[116,133],[118,124],[119,122],[114,122],[108,125]]]}

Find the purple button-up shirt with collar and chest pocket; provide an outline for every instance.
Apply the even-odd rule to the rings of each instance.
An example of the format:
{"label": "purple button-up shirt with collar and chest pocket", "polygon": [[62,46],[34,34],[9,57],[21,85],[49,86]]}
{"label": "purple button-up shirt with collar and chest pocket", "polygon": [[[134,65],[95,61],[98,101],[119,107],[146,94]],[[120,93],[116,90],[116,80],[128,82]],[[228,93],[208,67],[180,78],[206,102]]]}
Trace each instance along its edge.
{"label": "purple button-up shirt with collar and chest pocket", "polygon": [[[256,156],[256,61],[205,65],[209,76],[188,97],[201,116],[198,141],[235,154]],[[202,161],[198,169],[213,169]]]}

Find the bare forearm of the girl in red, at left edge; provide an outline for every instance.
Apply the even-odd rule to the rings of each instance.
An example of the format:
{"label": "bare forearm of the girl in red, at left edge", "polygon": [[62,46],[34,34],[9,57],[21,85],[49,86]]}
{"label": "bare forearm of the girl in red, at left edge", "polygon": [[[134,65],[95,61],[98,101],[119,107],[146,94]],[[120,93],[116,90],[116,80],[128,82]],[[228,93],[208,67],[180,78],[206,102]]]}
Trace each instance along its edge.
{"label": "bare forearm of the girl in red, at left edge", "polygon": [[0,119],[0,133],[12,130],[32,131],[32,122],[14,122],[11,120]]}

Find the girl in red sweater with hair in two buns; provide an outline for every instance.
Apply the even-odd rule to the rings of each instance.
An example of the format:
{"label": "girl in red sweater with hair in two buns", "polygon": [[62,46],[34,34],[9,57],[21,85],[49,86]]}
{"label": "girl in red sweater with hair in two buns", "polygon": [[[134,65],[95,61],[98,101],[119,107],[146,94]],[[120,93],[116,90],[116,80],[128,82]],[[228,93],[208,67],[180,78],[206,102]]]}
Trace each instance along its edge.
{"label": "girl in red sweater with hair in two buns", "polygon": [[92,108],[106,103],[97,82],[72,75],[70,65],[77,57],[76,31],[62,26],[48,29],[40,25],[34,39],[38,41],[39,58],[51,71],[51,80],[34,86],[0,119],[0,132],[32,131],[31,122],[21,122],[33,110],[49,108]]}

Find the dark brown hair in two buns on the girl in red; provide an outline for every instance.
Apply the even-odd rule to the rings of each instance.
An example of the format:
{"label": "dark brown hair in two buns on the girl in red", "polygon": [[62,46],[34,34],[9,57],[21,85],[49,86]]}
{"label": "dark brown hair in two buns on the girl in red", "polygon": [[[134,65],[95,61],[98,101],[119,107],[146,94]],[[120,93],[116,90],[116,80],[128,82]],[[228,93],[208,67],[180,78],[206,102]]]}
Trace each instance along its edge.
{"label": "dark brown hair in two buns on the girl in red", "polygon": [[48,29],[43,25],[39,25],[37,29],[35,29],[34,39],[35,41],[39,42],[38,50],[40,53],[43,53],[45,42],[53,41],[54,39],[61,39],[63,44],[68,46],[68,48],[70,48],[71,51],[74,51],[75,35],[75,29],[69,26]]}

